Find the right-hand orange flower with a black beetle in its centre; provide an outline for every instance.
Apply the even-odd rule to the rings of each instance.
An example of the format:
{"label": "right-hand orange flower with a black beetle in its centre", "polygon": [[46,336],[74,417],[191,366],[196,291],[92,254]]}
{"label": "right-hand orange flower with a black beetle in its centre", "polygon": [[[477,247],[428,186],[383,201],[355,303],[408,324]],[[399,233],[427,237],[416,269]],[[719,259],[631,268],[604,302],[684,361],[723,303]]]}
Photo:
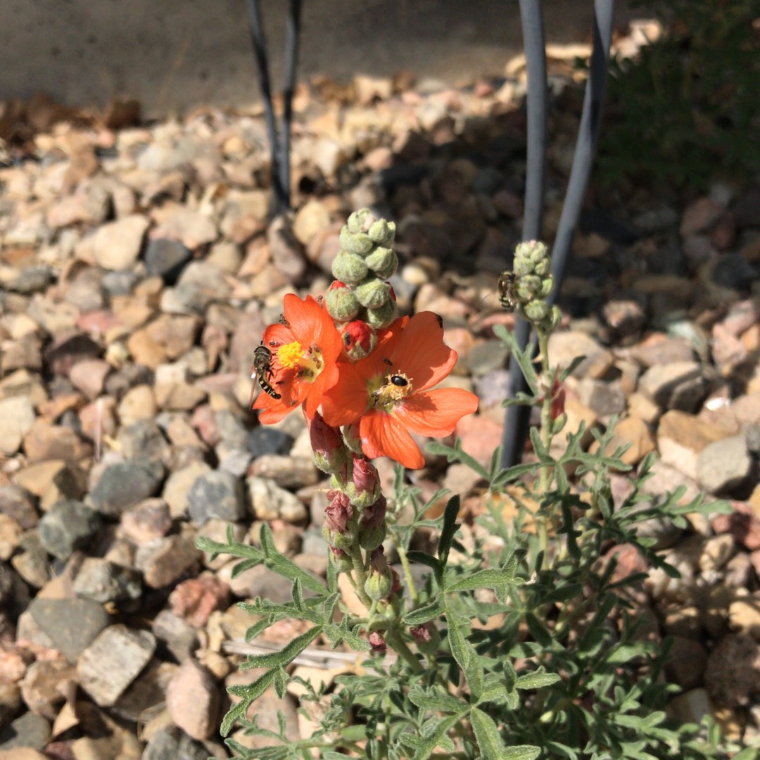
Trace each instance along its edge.
{"label": "right-hand orange flower with a black beetle in its centre", "polygon": [[461,388],[438,388],[457,362],[443,342],[441,318],[420,312],[397,319],[378,335],[375,350],[356,364],[340,361],[340,378],[322,397],[328,425],[359,423],[366,457],[388,456],[404,467],[425,461],[411,432],[442,438],[454,432],[478,398]]}

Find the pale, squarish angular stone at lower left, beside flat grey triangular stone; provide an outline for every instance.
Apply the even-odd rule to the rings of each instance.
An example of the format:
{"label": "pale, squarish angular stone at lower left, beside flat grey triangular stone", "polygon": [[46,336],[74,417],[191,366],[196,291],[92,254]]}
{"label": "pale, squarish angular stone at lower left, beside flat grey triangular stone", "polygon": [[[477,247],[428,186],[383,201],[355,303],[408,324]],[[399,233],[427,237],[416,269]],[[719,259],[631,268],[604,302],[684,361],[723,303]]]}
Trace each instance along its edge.
{"label": "pale, squarish angular stone at lower left, beside flat grey triangular stone", "polygon": [[110,707],[153,657],[156,638],[148,631],[109,625],[85,649],[77,664],[81,687],[101,707]]}

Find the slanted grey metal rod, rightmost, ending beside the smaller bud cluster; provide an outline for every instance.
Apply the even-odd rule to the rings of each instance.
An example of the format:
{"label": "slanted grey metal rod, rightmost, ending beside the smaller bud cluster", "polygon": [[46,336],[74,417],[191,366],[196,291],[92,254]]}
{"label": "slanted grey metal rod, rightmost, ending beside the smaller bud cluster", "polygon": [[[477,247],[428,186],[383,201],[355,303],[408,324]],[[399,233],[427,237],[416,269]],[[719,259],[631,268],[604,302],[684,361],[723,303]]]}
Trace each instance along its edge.
{"label": "slanted grey metal rod, rightmost, ending beside the smaller bud cluster", "polygon": [[557,234],[552,249],[552,274],[556,286],[550,302],[555,302],[565,277],[570,257],[570,246],[581,215],[591,164],[599,136],[599,125],[604,100],[607,71],[610,68],[610,44],[613,34],[613,11],[615,0],[594,0],[594,46],[591,49],[591,67],[588,72],[586,92],[581,111],[581,125],[570,169],[565,202],[559,217]]}

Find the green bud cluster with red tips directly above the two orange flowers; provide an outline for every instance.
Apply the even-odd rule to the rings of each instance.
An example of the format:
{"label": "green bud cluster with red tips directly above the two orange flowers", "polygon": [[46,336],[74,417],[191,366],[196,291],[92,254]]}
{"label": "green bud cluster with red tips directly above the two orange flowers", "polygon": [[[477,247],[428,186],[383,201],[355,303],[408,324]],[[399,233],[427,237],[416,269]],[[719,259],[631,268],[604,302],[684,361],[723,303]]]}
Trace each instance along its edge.
{"label": "green bud cluster with red tips directly above the two orange flowers", "polygon": [[375,331],[388,327],[398,315],[388,283],[398,266],[391,248],[395,234],[395,224],[376,219],[369,208],[351,214],[340,230],[340,252],[332,266],[335,281],[325,296],[325,306],[354,361],[372,351]]}

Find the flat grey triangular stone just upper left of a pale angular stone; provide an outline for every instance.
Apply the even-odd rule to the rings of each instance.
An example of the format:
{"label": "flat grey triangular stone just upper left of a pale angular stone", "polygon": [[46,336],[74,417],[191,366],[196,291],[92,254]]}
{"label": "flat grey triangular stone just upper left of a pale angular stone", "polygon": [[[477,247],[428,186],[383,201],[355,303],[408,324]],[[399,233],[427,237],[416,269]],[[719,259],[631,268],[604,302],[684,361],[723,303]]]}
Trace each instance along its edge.
{"label": "flat grey triangular stone just upper left of a pale angular stone", "polygon": [[108,625],[109,614],[90,599],[33,599],[29,612],[53,646],[70,662]]}

